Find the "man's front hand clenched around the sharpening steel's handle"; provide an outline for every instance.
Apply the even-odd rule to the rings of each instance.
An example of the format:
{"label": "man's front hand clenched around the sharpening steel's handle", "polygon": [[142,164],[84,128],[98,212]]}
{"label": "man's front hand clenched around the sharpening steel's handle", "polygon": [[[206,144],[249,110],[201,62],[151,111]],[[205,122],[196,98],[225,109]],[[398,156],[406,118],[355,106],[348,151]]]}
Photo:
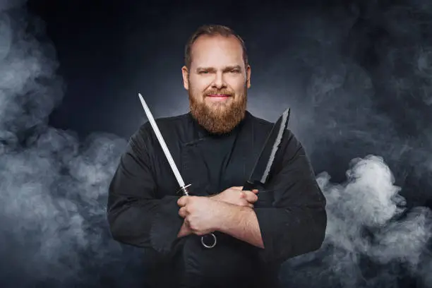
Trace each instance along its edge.
{"label": "man's front hand clenched around the sharpening steel's handle", "polygon": [[180,206],[179,215],[184,218],[184,225],[199,236],[214,232],[220,226],[224,205],[227,205],[202,196],[182,196],[177,200],[177,204]]}

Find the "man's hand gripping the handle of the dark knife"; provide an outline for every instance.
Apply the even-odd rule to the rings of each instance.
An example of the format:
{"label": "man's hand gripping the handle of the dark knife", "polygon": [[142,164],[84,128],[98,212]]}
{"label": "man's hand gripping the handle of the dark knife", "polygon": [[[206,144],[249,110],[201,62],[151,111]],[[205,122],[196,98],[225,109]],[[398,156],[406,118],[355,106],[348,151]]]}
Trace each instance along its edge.
{"label": "man's hand gripping the handle of the dark knife", "polygon": [[219,194],[210,196],[210,198],[232,205],[253,208],[253,203],[256,203],[258,200],[258,196],[256,195],[258,190],[253,189],[253,191],[241,191],[241,189],[243,189],[241,186],[227,188]]}

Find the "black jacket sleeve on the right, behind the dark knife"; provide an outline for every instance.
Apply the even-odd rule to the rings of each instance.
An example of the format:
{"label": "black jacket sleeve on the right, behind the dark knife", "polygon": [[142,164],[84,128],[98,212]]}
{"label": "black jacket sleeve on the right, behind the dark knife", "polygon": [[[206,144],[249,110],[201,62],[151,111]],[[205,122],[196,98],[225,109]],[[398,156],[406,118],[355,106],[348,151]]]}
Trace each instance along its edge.
{"label": "black jacket sleeve on the right, behind the dark knife", "polygon": [[304,148],[291,131],[284,134],[275,159],[282,161],[275,161],[263,191],[273,196],[272,204],[254,209],[264,244],[258,255],[266,263],[282,263],[318,250],[327,226],[325,197]]}

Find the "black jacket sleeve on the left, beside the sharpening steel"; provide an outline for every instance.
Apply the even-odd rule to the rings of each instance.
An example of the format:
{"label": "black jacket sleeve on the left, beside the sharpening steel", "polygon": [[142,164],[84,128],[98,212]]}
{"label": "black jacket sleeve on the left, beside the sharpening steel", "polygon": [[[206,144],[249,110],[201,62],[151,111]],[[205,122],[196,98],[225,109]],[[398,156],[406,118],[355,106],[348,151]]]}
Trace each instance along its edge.
{"label": "black jacket sleeve on the left, beside the sharpening steel", "polygon": [[142,126],[131,136],[109,184],[109,229],[116,241],[167,254],[179,241],[183,218],[179,216],[179,197],[155,198],[155,169],[150,167],[146,135]]}

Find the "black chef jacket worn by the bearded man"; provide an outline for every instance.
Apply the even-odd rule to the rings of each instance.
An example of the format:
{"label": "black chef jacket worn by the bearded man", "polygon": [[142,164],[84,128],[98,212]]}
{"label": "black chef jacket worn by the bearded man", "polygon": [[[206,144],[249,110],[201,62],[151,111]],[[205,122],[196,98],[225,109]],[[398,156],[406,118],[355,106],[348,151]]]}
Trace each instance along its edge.
{"label": "black chef jacket worn by the bearded man", "polygon": [[[272,123],[246,111],[231,133],[211,135],[190,112],[156,120],[174,162],[196,196],[242,186]],[[109,186],[112,236],[145,248],[148,287],[280,287],[284,260],[320,248],[327,224],[325,198],[299,140],[287,129],[259,187],[256,212],[265,248],[215,232],[217,245],[205,248],[200,236],[177,238],[184,221],[172,169],[150,123],[140,126]]]}

